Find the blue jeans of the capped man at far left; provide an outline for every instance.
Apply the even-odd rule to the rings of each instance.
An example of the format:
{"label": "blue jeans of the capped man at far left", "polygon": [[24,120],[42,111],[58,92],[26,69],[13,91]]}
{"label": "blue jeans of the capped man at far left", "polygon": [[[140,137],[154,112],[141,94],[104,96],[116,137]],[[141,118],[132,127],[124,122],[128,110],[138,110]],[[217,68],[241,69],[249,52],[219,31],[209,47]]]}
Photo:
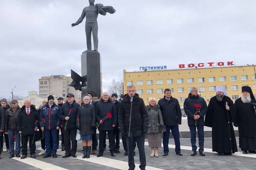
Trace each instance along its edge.
{"label": "blue jeans of the capped man at far left", "polygon": [[[15,142],[15,153],[20,154],[20,134],[17,130],[8,130],[9,135],[9,153],[14,154],[14,142]],[[16,136],[16,139],[14,139]]]}

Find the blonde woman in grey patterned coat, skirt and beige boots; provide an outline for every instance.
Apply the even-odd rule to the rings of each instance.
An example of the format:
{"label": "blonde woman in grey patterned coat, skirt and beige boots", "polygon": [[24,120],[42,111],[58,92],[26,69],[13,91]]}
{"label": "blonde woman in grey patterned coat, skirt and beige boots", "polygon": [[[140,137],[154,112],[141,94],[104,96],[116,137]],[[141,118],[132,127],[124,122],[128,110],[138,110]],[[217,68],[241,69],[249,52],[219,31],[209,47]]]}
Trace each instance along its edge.
{"label": "blonde woman in grey patterned coat, skirt and beige boots", "polygon": [[[157,99],[150,97],[148,99],[148,146],[151,147],[150,157],[158,157],[158,147],[162,146],[161,138],[164,130],[163,117],[159,105],[156,105]],[[162,128],[161,128],[162,127]]]}

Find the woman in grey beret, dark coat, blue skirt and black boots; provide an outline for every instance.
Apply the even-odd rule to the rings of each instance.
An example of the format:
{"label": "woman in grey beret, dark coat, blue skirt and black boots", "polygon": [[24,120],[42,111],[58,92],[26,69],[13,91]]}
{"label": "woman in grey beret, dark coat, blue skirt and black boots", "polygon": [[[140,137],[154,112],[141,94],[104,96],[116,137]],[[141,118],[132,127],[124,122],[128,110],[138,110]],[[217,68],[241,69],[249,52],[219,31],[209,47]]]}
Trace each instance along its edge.
{"label": "woman in grey beret, dark coat, blue skirt and black boots", "polygon": [[95,128],[95,109],[90,105],[90,97],[84,96],[84,104],[79,106],[77,113],[78,129],[80,130],[82,146],[84,150],[83,158],[90,158],[92,147],[92,135]]}

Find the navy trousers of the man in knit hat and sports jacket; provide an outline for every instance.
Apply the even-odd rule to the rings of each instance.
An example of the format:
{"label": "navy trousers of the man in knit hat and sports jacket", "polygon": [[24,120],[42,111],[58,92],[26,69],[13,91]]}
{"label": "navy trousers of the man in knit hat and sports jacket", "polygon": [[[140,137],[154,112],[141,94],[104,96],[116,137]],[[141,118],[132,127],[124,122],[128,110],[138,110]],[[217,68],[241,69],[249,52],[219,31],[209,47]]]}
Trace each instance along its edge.
{"label": "navy trousers of the man in knit hat and sports jacket", "polygon": [[[57,153],[57,148],[58,148],[58,130],[53,129],[53,130],[44,130],[44,141],[46,145],[46,151],[45,153],[47,155],[49,154],[56,154]],[[52,144],[51,144],[52,142]],[[52,148],[51,148],[52,146]]]}

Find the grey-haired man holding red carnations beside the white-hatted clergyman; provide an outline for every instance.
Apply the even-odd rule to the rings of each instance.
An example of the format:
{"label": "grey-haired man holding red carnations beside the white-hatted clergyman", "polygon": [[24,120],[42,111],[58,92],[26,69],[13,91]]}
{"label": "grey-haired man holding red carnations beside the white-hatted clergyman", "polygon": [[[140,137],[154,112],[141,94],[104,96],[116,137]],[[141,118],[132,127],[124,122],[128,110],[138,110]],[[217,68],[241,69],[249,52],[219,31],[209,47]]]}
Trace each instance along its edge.
{"label": "grey-haired man holding red carnations beside the white-hatted clergyman", "polygon": [[[200,110],[196,113],[195,104],[200,105]],[[198,89],[191,88],[189,97],[184,101],[184,111],[188,117],[188,125],[191,136],[192,153],[191,156],[196,155],[196,128],[198,130],[198,143],[199,153],[201,156],[205,156],[204,153],[204,115],[207,112],[207,104],[204,98],[198,95]]]}

